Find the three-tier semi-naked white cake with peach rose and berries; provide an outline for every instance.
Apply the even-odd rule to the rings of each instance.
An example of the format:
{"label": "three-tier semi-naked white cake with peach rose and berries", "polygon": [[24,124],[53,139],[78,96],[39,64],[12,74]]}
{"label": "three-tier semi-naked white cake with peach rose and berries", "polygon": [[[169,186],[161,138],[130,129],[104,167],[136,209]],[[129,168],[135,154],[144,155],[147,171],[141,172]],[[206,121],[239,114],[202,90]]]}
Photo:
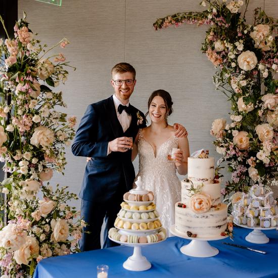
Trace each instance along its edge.
{"label": "three-tier semi-naked white cake with peach rose and berries", "polygon": [[175,229],[184,236],[210,238],[225,236],[226,228],[227,206],[221,203],[214,158],[202,150],[188,158],[188,179],[181,181],[181,202],[175,204]]}

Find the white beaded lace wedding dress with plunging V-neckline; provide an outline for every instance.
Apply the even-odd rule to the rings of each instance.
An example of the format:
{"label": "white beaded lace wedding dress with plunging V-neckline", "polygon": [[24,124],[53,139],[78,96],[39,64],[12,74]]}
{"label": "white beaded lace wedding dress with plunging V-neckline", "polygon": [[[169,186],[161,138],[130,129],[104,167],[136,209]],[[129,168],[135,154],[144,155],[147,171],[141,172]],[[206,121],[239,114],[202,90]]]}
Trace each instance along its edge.
{"label": "white beaded lace wedding dress with plunging V-neckline", "polygon": [[170,137],[166,142],[160,145],[156,150],[144,137],[142,129],[138,136],[138,155],[139,172],[137,176],[142,177],[144,188],[153,191],[157,211],[160,214],[160,220],[167,229],[174,224],[175,203],[180,199],[180,181],[176,175],[176,166],[174,162],[167,160],[167,155],[172,148],[177,148],[178,138]]}

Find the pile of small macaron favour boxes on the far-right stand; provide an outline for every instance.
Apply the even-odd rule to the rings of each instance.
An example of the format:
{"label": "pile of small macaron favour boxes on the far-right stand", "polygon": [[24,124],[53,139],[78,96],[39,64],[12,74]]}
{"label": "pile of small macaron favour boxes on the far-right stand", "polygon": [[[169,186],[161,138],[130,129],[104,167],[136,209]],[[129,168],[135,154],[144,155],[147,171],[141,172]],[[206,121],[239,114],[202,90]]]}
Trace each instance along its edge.
{"label": "pile of small macaron favour boxes on the far-right stand", "polygon": [[278,205],[273,192],[254,185],[247,194],[233,195],[233,216],[236,224],[248,227],[271,228],[278,226]]}

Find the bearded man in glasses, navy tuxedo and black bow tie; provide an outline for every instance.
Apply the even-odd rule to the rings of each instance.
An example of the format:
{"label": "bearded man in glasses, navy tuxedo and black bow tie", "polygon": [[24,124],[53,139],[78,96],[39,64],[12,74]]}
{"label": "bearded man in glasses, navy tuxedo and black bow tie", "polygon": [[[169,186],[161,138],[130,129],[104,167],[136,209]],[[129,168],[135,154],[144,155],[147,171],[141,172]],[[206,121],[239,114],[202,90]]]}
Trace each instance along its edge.
{"label": "bearded man in glasses, navy tuxedo and black bow tie", "polygon": [[[79,241],[80,250],[101,248],[100,235],[105,218],[104,248],[117,244],[108,239],[114,226],[123,194],[132,188],[135,178],[131,146],[139,128],[146,126],[144,114],[129,104],[136,84],[135,69],[119,63],[111,70],[114,95],[90,104],[76,131],[72,152],[91,157],[86,165],[79,197],[81,217],[88,225]],[[183,126],[176,134],[186,135]]]}

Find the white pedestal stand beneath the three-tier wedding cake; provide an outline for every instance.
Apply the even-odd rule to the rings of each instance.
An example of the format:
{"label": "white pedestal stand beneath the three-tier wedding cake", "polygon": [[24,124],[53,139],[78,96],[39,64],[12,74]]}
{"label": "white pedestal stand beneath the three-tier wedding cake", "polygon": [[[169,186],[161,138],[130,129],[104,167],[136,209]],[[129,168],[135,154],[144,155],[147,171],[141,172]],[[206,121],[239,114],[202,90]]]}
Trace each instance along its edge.
{"label": "white pedestal stand beneath the three-tier wedding cake", "polygon": [[206,257],[213,257],[219,253],[219,250],[215,247],[212,247],[208,241],[216,241],[222,240],[227,238],[228,236],[219,236],[219,237],[210,237],[210,238],[190,238],[184,236],[179,231],[175,229],[175,225],[170,227],[170,232],[179,238],[191,240],[190,244],[183,245],[180,248],[180,252],[182,254],[191,256],[191,257],[199,257],[199,258],[206,258]]}

